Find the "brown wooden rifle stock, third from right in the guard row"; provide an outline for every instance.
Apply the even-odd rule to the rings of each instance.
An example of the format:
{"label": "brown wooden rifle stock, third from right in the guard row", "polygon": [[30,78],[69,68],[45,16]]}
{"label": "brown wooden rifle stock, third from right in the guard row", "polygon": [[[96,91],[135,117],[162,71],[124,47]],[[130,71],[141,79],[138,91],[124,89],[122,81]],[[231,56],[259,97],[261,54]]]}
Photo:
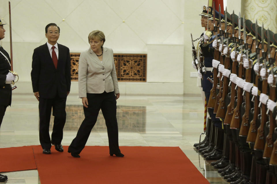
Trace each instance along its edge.
{"label": "brown wooden rifle stock, third from right in the guard row", "polygon": [[[266,74],[267,75],[267,74]],[[263,80],[263,84],[262,84],[262,93],[266,94],[267,91],[267,76],[266,78]],[[261,125],[257,130],[257,137],[256,137],[256,141],[254,144],[254,150],[264,150],[264,126],[266,123],[266,119],[267,119],[267,114],[266,114],[266,105],[265,104],[261,104],[262,106],[262,112],[261,112]]]}

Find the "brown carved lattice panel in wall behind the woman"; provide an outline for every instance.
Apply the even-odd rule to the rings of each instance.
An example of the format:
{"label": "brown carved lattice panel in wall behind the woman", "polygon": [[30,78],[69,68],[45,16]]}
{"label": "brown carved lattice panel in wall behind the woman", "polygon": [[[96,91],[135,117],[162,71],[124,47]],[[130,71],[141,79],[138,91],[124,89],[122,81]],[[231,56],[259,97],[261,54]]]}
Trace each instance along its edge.
{"label": "brown carved lattice panel in wall behind the woman", "polygon": [[[80,53],[70,53],[71,80],[78,81]],[[147,54],[114,54],[118,81],[146,82]]]}

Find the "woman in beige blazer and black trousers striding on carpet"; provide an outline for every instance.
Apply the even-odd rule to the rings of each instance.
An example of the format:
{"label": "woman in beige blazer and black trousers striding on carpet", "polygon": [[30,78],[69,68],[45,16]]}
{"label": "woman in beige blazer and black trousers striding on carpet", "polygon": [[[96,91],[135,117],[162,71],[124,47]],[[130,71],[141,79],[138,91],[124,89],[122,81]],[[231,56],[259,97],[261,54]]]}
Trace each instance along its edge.
{"label": "woman in beige blazer and black trousers striding on carpet", "polygon": [[120,93],[113,50],[103,47],[105,35],[102,31],[92,31],[88,39],[90,48],[81,53],[78,68],[79,98],[82,98],[85,119],[68,152],[73,157],[80,157],[101,109],[108,130],[110,155],[123,157],[118,145],[116,99]]}

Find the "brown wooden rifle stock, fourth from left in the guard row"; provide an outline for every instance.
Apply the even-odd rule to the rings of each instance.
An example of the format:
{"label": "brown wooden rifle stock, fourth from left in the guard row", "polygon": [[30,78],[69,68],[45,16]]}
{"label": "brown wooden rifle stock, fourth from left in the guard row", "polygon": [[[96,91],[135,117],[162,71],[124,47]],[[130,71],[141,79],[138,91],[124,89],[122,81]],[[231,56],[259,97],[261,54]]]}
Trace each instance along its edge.
{"label": "brown wooden rifle stock, fourth from left in the guard row", "polygon": [[[236,74],[237,73],[237,53],[235,55],[235,61],[232,62],[232,74]],[[227,106],[227,112],[224,118],[224,122],[223,124],[231,124],[232,121],[232,117],[233,117],[233,112],[235,109],[235,95],[236,95],[236,90],[235,90],[235,83],[231,82],[231,100],[229,105]]]}

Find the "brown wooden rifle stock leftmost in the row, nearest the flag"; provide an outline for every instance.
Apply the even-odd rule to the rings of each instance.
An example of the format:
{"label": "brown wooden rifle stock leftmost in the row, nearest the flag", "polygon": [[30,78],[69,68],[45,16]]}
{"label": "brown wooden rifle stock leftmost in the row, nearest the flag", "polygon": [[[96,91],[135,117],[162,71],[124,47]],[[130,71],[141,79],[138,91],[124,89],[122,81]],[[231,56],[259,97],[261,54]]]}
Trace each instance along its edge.
{"label": "brown wooden rifle stock leftmost in the row, nearest the flag", "polygon": [[[214,50],[214,59],[219,60],[219,57],[220,57],[220,52],[219,52],[218,46],[217,46],[217,49]],[[210,91],[207,108],[214,108],[214,105],[216,104],[216,86],[218,83],[217,74],[218,74],[218,69],[214,68],[214,83],[213,83],[213,87]]]}

